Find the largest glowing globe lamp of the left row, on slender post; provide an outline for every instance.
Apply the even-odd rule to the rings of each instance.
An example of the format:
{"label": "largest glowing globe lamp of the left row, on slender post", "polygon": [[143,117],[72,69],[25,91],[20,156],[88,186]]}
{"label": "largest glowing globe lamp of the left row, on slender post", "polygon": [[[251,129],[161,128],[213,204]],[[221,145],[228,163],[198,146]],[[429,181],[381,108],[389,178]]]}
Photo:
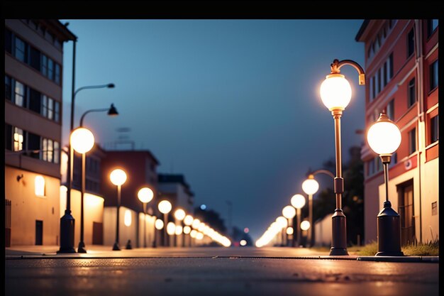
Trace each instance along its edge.
{"label": "largest glowing globe lamp of the left row, on slender post", "polygon": [[85,193],[85,158],[86,154],[94,146],[94,135],[88,128],[76,128],[70,136],[70,146],[77,153],[82,154],[82,189],[80,190],[80,241],[78,253],[87,253],[84,243],[84,193]]}

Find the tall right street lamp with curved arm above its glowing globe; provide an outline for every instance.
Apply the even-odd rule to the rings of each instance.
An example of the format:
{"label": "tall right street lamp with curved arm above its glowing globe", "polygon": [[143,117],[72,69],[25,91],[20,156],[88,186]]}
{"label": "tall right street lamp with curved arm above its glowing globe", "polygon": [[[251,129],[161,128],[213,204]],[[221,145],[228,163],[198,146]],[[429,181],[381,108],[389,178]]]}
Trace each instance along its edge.
{"label": "tall right street lamp with curved arm above its glowing globe", "polygon": [[331,74],[326,76],[321,84],[321,99],[331,111],[335,121],[335,150],[336,150],[336,177],[334,191],[336,195],[336,209],[332,216],[332,246],[330,255],[348,255],[347,232],[345,214],[342,209],[342,194],[344,192],[344,179],[342,177],[342,157],[340,144],[340,117],[352,97],[350,83],[340,73],[340,67],[353,66],[359,75],[359,84],[365,84],[365,73],[362,67],[353,60],[333,60]]}

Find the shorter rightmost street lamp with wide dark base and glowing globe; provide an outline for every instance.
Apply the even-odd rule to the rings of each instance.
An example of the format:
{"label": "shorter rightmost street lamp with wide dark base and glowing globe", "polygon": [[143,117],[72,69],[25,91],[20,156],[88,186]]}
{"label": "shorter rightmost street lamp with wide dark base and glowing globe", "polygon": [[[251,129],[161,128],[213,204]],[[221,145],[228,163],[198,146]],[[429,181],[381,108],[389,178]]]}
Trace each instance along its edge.
{"label": "shorter rightmost street lamp with wide dark base and glowing globe", "polygon": [[404,256],[401,251],[401,222],[399,214],[389,202],[389,163],[392,153],[401,144],[401,131],[384,112],[367,131],[367,142],[379,154],[384,167],[385,202],[384,209],[377,216],[376,256]]}

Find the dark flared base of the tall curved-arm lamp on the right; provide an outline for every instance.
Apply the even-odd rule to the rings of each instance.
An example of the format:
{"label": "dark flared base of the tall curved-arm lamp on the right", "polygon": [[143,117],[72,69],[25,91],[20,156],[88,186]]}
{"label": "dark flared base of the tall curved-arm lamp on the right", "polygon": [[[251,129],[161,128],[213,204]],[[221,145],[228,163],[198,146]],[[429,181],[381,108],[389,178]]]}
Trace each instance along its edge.
{"label": "dark flared base of the tall curved-arm lamp on the right", "polygon": [[348,255],[347,251],[347,229],[345,227],[345,215],[342,209],[335,209],[331,217],[332,242],[330,256]]}

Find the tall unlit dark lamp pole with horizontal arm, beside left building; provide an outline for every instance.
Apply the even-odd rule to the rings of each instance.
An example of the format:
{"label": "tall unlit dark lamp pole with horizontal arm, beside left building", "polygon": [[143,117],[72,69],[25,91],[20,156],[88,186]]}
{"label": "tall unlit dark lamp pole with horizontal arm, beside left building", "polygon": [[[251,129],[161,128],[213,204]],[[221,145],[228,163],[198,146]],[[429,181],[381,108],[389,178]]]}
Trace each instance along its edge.
{"label": "tall unlit dark lamp pole with horizontal arm, beside left building", "polygon": [[[70,134],[74,131],[74,100],[75,96],[82,89],[94,89],[94,88],[113,88],[114,84],[92,85],[89,87],[80,87],[74,91],[75,82],[75,48],[77,38],[74,40],[74,48],[72,55],[72,92],[71,92],[71,118],[70,118]],[[71,145],[70,145],[71,146]],[[72,188],[72,163],[74,158],[72,156],[72,148],[70,147],[70,157],[68,157],[67,163],[67,205],[65,214],[60,218],[60,249],[57,253],[75,253],[74,250],[74,217],[71,215],[71,188]]]}

